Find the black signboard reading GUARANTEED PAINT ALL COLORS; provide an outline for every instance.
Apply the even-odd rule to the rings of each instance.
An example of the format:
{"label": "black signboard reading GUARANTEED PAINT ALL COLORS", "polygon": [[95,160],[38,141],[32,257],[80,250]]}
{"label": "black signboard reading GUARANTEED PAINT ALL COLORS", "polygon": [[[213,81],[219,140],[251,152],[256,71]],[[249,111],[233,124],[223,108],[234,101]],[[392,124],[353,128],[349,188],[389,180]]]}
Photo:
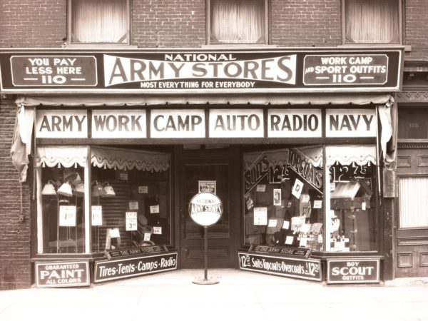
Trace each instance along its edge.
{"label": "black signboard reading GUARANTEED PAINT ALL COLORS", "polygon": [[90,285],[89,262],[36,262],[37,287],[81,287]]}

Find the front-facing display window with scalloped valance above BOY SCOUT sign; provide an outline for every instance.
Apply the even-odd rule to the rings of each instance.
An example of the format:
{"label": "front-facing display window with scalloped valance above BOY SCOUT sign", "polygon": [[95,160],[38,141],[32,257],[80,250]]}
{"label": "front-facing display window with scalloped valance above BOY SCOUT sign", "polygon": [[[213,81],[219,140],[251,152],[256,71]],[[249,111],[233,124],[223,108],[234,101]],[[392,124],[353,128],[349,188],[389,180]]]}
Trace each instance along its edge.
{"label": "front-facing display window with scalloped valance above BOY SCOUT sign", "polygon": [[327,146],[326,250],[377,250],[376,146]]}

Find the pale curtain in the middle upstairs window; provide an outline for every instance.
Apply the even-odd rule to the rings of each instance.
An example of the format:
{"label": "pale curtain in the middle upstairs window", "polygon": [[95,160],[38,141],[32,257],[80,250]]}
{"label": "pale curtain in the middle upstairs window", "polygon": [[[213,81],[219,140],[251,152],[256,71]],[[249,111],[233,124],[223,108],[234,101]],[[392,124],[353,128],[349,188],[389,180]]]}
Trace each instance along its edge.
{"label": "pale curtain in the middle upstairs window", "polygon": [[212,44],[265,44],[265,1],[211,0]]}

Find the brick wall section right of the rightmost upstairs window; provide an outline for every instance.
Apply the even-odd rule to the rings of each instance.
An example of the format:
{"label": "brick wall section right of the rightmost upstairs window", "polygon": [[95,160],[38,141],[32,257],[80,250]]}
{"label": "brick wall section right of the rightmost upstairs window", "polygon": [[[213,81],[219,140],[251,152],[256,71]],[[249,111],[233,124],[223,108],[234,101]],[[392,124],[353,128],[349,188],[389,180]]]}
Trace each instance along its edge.
{"label": "brick wall section right of the rightmost upstairs window", "polygon": [[428,6],[427,0],[406,0],[404,15],[405,44],[412,46],[406,58],[428,60]]}

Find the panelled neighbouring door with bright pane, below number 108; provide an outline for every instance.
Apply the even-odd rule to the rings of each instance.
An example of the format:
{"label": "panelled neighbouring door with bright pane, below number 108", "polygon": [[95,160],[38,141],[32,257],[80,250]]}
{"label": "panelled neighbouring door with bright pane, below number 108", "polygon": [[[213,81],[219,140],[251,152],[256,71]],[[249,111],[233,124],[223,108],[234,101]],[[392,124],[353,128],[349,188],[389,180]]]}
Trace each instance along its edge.
{"label": "panelled neighbouring door with bright pane, below number 108", "polygon": [[398,150],[395,277],[428,275],[428,146]]}

